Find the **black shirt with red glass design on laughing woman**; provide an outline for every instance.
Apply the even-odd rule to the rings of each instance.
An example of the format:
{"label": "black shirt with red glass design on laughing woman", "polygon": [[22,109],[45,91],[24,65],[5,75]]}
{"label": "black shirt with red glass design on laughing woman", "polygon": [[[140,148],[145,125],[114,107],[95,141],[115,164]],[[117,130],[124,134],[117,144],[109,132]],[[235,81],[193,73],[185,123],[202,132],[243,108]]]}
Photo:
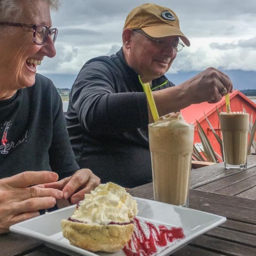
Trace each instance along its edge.
{"label": "black shirt with red glass design on laughing woman", "polygon": [[0,101],[0,178],[52,170],[62,179],[77,169],[60,95],[37,74],[32,87]]}

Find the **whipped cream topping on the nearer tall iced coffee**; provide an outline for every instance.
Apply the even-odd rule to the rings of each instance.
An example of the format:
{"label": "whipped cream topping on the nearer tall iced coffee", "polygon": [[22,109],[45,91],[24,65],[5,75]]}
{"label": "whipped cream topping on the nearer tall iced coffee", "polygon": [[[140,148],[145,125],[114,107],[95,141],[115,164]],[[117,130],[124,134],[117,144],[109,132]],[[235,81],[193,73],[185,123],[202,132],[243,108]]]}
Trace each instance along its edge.
{"label": "whipped cream topping on the nearer tall iced coffee", "polygon": [[159,117],[152,126],[187,127],[189,124],[186,123],[180,112],[172,112]]}

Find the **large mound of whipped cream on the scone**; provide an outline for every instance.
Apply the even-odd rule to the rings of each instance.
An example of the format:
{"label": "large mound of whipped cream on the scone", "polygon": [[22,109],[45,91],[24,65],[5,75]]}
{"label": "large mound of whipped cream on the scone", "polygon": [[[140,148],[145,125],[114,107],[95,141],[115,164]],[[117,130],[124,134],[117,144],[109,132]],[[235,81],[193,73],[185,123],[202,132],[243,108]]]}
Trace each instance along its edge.
{"label": "large mound of whipped cream on the scone", "polygon": [[123,187],[108,182],[85,194],[71,218],[88,224],[106,225],[130,222],[137,214],[137,202],[131,195]]}

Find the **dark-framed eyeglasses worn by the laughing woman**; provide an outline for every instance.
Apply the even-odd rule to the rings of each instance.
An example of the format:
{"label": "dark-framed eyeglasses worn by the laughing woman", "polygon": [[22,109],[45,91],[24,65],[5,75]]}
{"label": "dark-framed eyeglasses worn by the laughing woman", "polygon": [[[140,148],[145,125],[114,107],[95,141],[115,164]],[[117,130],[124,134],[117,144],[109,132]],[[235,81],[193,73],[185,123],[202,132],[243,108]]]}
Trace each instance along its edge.
{"label": "dark-framed eyeglasses worn by the laughing woman", "polygon": [[51,37],[54,43],[58,34],[57,28],[49,29],[48,26],[45,26],[45,25],[32,25],[32,24],[13,23],[13,22],[4,22],[4,21],[0,21],[0,25],[33,28],[33,42],[36,44],[44,44],[48,35]]}

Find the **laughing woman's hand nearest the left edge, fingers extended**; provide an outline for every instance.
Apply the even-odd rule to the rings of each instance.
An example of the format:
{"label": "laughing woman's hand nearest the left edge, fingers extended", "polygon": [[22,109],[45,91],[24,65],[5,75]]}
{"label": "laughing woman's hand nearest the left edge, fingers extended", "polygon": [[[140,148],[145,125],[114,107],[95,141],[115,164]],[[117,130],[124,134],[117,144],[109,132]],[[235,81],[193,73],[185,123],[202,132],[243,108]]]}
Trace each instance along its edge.
{"label": "laughing woman's hand nearest the left edge, fingers extended", "polygon": [[0,233],[13,224],[39,216],[63,197],[63,192],[44,188],[40,183],[54,182],[58,175],[50,171],[27,171],[0,179]]}

